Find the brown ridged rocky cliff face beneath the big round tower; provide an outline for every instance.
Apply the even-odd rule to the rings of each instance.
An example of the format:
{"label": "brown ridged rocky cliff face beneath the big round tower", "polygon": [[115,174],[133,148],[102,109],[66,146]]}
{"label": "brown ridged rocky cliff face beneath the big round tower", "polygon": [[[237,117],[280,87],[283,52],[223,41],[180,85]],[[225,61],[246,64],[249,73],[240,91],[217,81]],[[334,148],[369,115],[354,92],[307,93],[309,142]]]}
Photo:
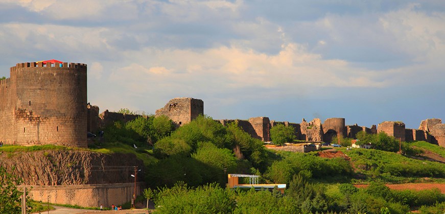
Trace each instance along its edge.
{"label": "brown ridged rocky cliff face beneath the big round tower", "polygon": [[[0,165],[26,185],[129,183],[134,182],[134,166],[143,169],[143,162],[133,154],[90,151],[4,152]],[[142,175],[139,172],[138,180]]]}

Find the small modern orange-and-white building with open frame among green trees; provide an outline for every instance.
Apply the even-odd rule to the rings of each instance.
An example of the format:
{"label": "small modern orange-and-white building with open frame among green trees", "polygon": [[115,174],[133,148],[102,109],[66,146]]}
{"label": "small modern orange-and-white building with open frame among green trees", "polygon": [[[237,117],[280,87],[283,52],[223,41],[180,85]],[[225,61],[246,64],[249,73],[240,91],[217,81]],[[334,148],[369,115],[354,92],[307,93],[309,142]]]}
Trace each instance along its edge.
{"label": "small modern orange-and-white building with open frame among green trees", "polygon": [[[249,178],[249,184],[239,184],[240,177]],[[286,184],[283,183],[272,183],[272,184],[259,184],[258,175],[245,175],[245,174],[228,174],[227,175],[227,186],[230,188],[255,188],[255,190],[269,189],[270,191],[276,186],[278,191],[284,194],[286,189]]]}

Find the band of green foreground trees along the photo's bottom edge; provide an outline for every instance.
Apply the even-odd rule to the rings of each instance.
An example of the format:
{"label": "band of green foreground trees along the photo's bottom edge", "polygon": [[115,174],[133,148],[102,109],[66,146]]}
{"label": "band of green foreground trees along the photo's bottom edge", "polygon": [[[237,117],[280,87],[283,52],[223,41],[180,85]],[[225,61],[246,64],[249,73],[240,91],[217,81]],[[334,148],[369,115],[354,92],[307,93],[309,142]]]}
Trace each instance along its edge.
{"label": "band of green foreground trees along the photo's bottom edge", "polygon": [[394,191],[379,182],[360,189],[352,184],[327,188],[300,174],[293,176],[285,195],[276,189],[224,189],[215,183],[193,188],[179,182],[160,188],[155,203],[167,213],[407,213],[410,206],[440,213],[434,210],[445,205],[438,189]]}

